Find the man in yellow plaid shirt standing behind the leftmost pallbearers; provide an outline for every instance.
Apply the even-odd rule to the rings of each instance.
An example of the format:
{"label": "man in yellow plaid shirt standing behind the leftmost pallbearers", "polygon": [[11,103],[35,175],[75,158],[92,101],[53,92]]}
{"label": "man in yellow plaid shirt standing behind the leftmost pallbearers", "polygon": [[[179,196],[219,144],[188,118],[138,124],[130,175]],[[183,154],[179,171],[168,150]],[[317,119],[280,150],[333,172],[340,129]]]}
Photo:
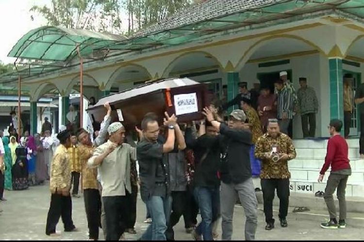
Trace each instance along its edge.
{"label": "man in yellow plaid shirt standing behind the leftmost pallbearers", "polygon": [[78,188],[80,184],[81,174],[81,161],[79,157],[79,150],[77,147],[77,137],[71,136],[71,147],[67,149],[69,156],[69,167],[71,169],[71,185],[73,184],[72,197],[80,197],[78,195]]}

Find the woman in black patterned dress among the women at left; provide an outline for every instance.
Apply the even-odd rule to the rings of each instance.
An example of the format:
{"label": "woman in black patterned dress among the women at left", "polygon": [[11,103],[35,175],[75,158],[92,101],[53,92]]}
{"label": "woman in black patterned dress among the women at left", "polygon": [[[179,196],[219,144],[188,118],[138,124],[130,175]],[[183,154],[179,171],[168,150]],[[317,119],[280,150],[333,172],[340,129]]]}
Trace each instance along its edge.
{"label": "woman in black patterned dress among the women at left", "polygon": [[24,190],[28,188],[28,161],[25,144],[21,144],[15,149],[17,160],[13,165],[13,190]]}

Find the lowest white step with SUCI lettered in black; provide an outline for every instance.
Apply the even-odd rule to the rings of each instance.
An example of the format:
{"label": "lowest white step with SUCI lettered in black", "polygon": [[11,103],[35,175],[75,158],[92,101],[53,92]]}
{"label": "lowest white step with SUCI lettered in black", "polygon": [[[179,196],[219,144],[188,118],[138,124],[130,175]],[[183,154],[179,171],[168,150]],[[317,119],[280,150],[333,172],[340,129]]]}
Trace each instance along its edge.
{"label": "lowest white step with SUCI lettered in black", "polygon": [[[325,191],[326,182],[318,182],[317,181],[318,174],[316,173],[316,178],[314,180],[298,180],[292,178],[290,180],[290,191],[291,193],[298,194],[307,194],[308,196],[314,197],[314,194],[317,191]],[[260,179],[253,179],[254,187],[262,188],[260,184]],[[336,196],[336,191],[334,193]],[[364,184],[363,182],[351,182],[347,183],[346,188],[346,196],[347,197],[362,197],[364,199]],[[316,198],[316,197],[314,197]],[[363,205],[364,206],[364,205]]]}

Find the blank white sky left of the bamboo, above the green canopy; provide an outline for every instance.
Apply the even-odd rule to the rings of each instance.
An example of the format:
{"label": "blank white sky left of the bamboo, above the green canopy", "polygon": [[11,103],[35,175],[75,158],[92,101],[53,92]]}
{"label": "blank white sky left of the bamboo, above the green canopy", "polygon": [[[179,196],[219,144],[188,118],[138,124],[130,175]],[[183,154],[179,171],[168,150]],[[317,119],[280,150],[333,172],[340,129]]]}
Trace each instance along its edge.
{"label": "blank white sky left of the bamboo, above the green canopy", "polygon": [[[51,0],[0,0],[0,61],[13,63],[16,58],[7,55],[17,41],[30,30],[47,25],[44,17],[30,13],[29,10],[33,5],[50,7]],[[127,23],[125,20],[126,17],[123,16],[124,28]]]}

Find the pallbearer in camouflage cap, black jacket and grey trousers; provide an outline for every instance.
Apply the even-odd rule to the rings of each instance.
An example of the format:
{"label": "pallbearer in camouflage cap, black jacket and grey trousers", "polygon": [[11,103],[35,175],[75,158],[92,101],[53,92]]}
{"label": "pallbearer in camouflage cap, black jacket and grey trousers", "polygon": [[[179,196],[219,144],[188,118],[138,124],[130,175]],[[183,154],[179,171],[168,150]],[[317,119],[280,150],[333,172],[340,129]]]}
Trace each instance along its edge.
{"label": "pallbearer in camouflage cap, black jacket and grey trousers", "polygon": [[234,110],[229,116],[229,126],[214,120],[209,108],[204,115],[211,124],[226,138],[226,155],[221,165],[221,217],[222,240],[232,239],[232,215],[236,194],[247,217],[245,240],[254,240],[257,228],[257,197],[254,191],[249,151],[252,143],[251,132],[247,129],[247,119],[243,110]]}

